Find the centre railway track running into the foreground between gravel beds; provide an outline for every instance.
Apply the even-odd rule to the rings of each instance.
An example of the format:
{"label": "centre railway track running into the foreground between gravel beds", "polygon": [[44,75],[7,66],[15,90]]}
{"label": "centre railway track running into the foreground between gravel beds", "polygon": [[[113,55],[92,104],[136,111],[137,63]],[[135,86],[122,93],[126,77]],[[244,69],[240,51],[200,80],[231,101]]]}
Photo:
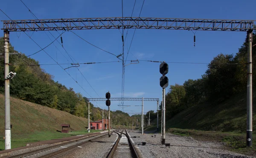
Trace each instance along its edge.
{"label": "centre railway track running into the foreground between gravel beds", "polygon": [[128,132],[122,130],[122,132],[115,131],[119,137],[116,143],[113,145],[111,151],[108,153],[107,158],[141,158],[138,154]]}

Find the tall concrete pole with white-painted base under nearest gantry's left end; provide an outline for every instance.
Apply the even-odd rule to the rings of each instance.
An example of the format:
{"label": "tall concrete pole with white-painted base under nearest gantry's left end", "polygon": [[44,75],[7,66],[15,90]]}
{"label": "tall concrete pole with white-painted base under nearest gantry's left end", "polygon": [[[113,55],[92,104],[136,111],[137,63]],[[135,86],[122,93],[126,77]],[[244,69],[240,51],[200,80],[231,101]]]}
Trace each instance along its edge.
{"label": "tall concrete pole with white-painted base under nearest gantry's left end", "polygon": [[4,31],[4,78],[5,78],[5,149],[11,149],[11,110],[9,75],[9,31]]}

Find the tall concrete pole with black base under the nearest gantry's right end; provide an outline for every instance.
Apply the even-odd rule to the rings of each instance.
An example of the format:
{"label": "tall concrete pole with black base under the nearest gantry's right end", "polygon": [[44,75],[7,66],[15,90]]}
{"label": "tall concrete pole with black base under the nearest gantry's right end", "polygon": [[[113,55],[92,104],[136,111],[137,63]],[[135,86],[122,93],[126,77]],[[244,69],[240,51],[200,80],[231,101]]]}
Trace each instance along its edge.
{"label": "tall concrete pole with black base under the nearest gantry's right end", "polygon": [[252,40],[253,30],[247,32],[248,37],[248,57],[247,57],[247,130],[246,145],[253,145],[253,82],[252,82]]}

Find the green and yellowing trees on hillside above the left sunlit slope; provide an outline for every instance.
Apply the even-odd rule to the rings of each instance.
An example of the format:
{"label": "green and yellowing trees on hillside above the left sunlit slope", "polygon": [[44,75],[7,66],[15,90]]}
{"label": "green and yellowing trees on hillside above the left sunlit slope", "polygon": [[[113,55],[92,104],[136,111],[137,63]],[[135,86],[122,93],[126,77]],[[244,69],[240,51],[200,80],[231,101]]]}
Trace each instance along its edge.
{"label": "green and yellowing trees on hillside above the left sunlit slope", "polygon": [[[0,43],[3,43],[3,37],[0,37]],[[9,52],[17,52],[11,44]],[[0,45],[0,53],[4,54],[3,44]],[[76,93],[73,88],[55,82],[54,76],[42,69],[38,61],[26,57],[25,54],[10,55],[9,60],[10,72],[17,73],[10,83],[10,94],[13,97],[88,118],[88,99],[80,92]],[[0,93],[4,94],[3,57],[0,57]],[[102,119],[102,109],[92,103],[90,103],[90,112],[91,120]],[[107,114],[106,110],[104,114]],[[111,111],[111,116],[112,124],[114,121],[116,123],[119,121],[120,124],[128,126],[132,121],[134,123],[137,121],[137,118],[130,118],[127,113],[121,111]]]}

